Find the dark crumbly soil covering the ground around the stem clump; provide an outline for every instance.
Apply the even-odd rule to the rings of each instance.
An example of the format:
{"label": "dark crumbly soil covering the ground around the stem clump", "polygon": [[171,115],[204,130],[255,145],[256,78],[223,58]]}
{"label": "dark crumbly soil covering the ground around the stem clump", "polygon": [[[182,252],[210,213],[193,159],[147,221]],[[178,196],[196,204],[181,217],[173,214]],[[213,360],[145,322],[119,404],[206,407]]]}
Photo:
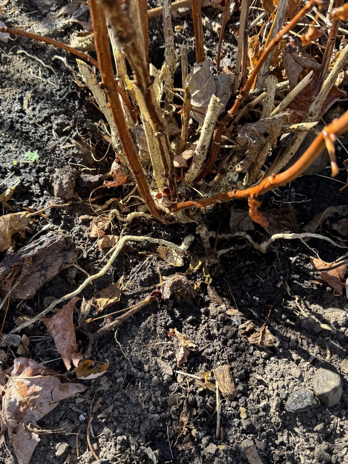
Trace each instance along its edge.
{"label": "dark crumbly soil covering the ground around the stem clump", "polygon": [[[40,24],[47,14],[60,6],[63,2],[57,6],[45,0],[10,0],[1,19],[7,26]],[[210,18],[217,14],[213,8],[205,9],[204,13]],[[87,13],[79,19],[87,21]],[[175,38],[178,45],[184,39],[187,41],[189,63],[193,64],[190,16],[175,13],[173,24],[184,26],[182,31],[175,33]],[[76,24],[67,26],[57,30],[52,37],[67,42],[70,34],[79,28]],[[206,34],[206,46],[210,50],[208,58],[213,58],[218,38],[213,32],[207,31]],[[159,67],[163,60],[161,19],[151,20],[150,37],[150,56]],[[234,45],[230,40],[229,37],[229,41],[225,41],[223,52],[232,59]],[[17,54],[19,50],[51,65],[55,74],[33,58]],[[53,229],[69,234],[78,253],[77,264],[90,274],[95,273],[105,264],[106,252],[99,251],[95,239],[87,236],[91,219],[80,218],[93,215],[89,195],[102,185],[103,176],[113,161],[111,150],[101,162],[94,161],[90,154],[92,151],[98,160],[108,148],[107,134],[100,122],[103,116],[91,103],[88,89],[78,88],[74,83],[71,71],[62,62],[51,61],[58,54],[66,57],[76,69],[75,59],[67,53],[22,37],[7,44],[1,42],[0,53],[1,192],[13,185],[17,178],[20,180],[8,201],[16,212],[23,208],[39,210],[71,200],[70,206],[47,210],[46,218],[37,216],[37,221],[26,232],[15,237],[13,251],[26,245],[34,234],[46,234],[47,229],[42,229],[49,222]],[[29,149],[38,150],[39,160],[23,163],[24,153]],[[341,154],[340,150],[338,146],[342,168],[347,155],[343,149]],[[13,161],[17,161],[16,165]],[[347,205],[348,188],[340,193],[338,189],[342,184],[329,177],[329,169],[321,174],[300,177],[291,185],[268,193],[263,198],[263,210],[289,208],[295,212],[300,230],[328,206]],[[345,183],[346,177],[344,170],[336,179]],[[58,193],[59,196],[55,196]],[[103,204],[112,195],[118,196],[122,192],[98,190],[95,194],[99,196],[95,203]],[[230,209],[237,206],[246,209],[245,203],[225,204],[207,214],[209,229],[216,231],[220,226],[220,232],[227,232]],[[221,218],[224,218],[222,223]],[[342,239],[346,237],[338,237],[331,227],[332,222],[339,219],[338,216],[331,218],[316,232],[343,243]],[[112,233],[119,234],[123,226],[114,224]],[[123,233],[165,238],[179,244],[187,234],[195,235],[195,228],[196,224],[162,226],[139,219],[127,225]],[[129,290],[132,290],[156,284],[157,269],[162,276],[175,271],[185,272],[190,256],[205,253],[199,236],[195,236],[187,263],[177,269],[161,260],[155,245],[130,243],[110,271],[87,287],[81,296],[90,298],[95,291],[117,282],[122,275],[125,281],[130,278]],[[261,228],[253,232],[253,236],[258,242],[267,237]],[[313,280],[318,278],[317,274],[298,271],[308,267],[309,256],[315,256],[316,251],[323,260],[331,262],[345,249],[317,239],[309,240],[307,244],[299,240],[279,240],[261,255],[245,240],[231,239],[218,242],[218,250],[233,245],[235,249],[210,268],[211,285],[220,297],[226,298],[225,304],[212,301],[206,284],[201,284],[196,302],[173,296],[169,302],[152,303],[118,329],[118,343],[114,333],[97,340],[91,359],[108,360],[108,371],[96,380],[85,382],[89,390],[84,396],[61,402],[39,421],[44,431],[51,432],[40,434],[41,441],[34,451],[32,463],[93,462],[95,458],[86,440],[90,416],[94,416],[90,434],[93,448],[99,458],[109,459],[107,462],[110,463],[169,462],[172,456],[168,436],[177,463],[247,463],[240,451],[246,438],[256,443],[264,463],[348,462],[348,373],[340,370],[347,354],[347,297],[345,293],[335,296],[326,284]],[[3,252],[0,258],[10,253]],[[192,284],[203,279],[200,273],[187,277]],[[69,267],[60,271],[32,298],[11,303],[5,333],[13,329],[14,320],[19,315],[30,316],[41,311],[55,298],[74,290],[84,279],[82,271]],[[124,294],[120,303],[108,312],[139,303],[148,293],[149,290]],[[228,314],[228,305],[232,309],[237,305],[238,314]],[[261,327],[269,305],[272,312],[268,327],[275,343],[270,348],[258,348],[241,338],[238,330],[249,320]],[[1,318],[3,315],[1,312]],[[317,332],[313,332],[313,320],[317,322]],[[100,326],[103,321],[98,321]],[[175,358],[177,342],[168,337],[168,331],[173,328],[188,335],[199,347],[179,368]],[[59,355],[42,323],[27,329],[26,335],[30,339],[29,356],[32,359],[46,362],[46,366],[59,373],[66,372],[61,359],[54,361]],[[78,331],[77,339],[84,353],[88,338]],[[322,404],[298,414],[287,412],[285,402],[290,393],[298,388],[310,390],[313,374],[322,360],[328,359],[341,373],[343,394],[340,403],[331,408]],[[4,367],[12,362],[13,355],[9,352]],[[176,371],[180,369],[199,376],[203,370],[213,371],[222,364],[230,367],[237,394],[234,398],[222,399],[221,428],[216,438],[215,393],[201,390],[193,378]],[[189,417],[186,428],[183,428],[180,414],[185,405]],[[98,418],[107,408],[106,417],[102,414]],[[14,462],[12,445],[5,436],[0,442],[0,463]]]}

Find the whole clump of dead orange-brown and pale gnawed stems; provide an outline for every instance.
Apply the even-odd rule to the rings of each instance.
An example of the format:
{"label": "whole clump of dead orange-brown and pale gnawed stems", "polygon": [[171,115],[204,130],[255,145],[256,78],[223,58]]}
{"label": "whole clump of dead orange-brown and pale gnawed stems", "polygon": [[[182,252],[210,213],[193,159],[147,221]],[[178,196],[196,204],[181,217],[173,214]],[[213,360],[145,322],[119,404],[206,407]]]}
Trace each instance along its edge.
{"label": "whole clump of dead orange-brown and pale gnawed stems", "polygon": [[[348,60],[344,37],[340,50],[334,53],[334,47],[347,8],[336,0],[326,19],[318,0],[309,0],[302,9],[300,3],[264,1],[251,28],[250,0],[242,0],[235,66],[230,63],[221,69],[225,27],[232,15],[238,15],[236,2],[226,2],[213,75],[205,58],[201,2],[191,0],[197,64],[189,71],[183,45],[182,89],[175,89],[179,53],[171,2],[163,0],[160,9],[165,63],[157,70],[148,63],[148,18],[156,9],[149,14],[144,1],[89,0],[97,61],[64,48],[89,63],[77,59],[84,83],[111,128],[116,161],[111,168],[114,181],[107,185],[135,183],[140,194],[136,198],[149,213],[138,203],[138,210],[127,217],[114,210],[116,218],[128,221],[145,214],[164,223],[197,221],[204,208],[244,199],[251,219],[263,225],[266,219],[258,212],[261,203],[256,198],[302,174],[325,147],[332,175],[338,173],[335,139],[348,129],[348,113],[341,112],[320,132],[318,122],[346,96],[338,88]],[[15,29],[0,30],[62,45]],[[256,35],[250,37],[251,30]],[[91,65],[100,72],[101,83]],[[318,134],[314,142],[284,170],[314,128]],[[290,142],[280,149],[284,134]]]}

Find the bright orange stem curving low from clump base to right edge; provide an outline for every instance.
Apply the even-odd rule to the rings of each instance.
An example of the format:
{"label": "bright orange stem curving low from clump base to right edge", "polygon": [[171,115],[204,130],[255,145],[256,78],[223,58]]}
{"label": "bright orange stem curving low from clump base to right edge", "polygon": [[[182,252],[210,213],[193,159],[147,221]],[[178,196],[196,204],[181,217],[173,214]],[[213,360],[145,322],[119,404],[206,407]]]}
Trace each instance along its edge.
{"label": "bright orange stem curving low from clump base to right edge", "polygon": [[183,201],[172,206],[172,211],[180,211],[186,208],[204,208],[206,206],[212,206],[216,203],[224,203],[230,200],[247,200],[254,195],[257,197],[262,193],[266,193],[273,188],[280,187],[287,184],[291,180],[296,179],[301,175],[316,159],[318,155],[325,148],[325,138],[327,134],[342,135],[348,130],[348,111],[346,111],[339,119],[334,120],[325,127],[322,132],[316,137],[312,144],[303,153],[301,158],[296,161],[289,169],[280,174],[271,174],[271,176],[265,177],[256,187],[246,188],[245,190],[232,190],[231,192],[219,193],[210,198],[204,198],[201,200],[190,200]]}

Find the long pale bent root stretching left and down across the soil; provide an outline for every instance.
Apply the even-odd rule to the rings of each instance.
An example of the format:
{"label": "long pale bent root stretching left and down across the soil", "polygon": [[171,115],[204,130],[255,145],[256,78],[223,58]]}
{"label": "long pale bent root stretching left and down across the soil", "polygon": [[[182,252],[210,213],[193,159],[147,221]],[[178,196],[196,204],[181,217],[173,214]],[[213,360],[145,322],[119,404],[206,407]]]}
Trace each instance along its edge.
{"label": "long pale bent root stretching left and down across the soil", "polygon": [[18,327],[15,327],[12,330],[12,333],[15,334],[19,332],[20,330],[25,329],[26,327],[30,327],[34,322],[39,321],[39,319],[43,316],[45,316],[47,313],[49,313],[53,308],[55,308],[58,304],[63,303],[66,300],[70,300],[73,296],[77,296],[81,293],[84,288],[87,287],[93,280],[96,280],[99,277],[102,277],[104,274],[109,271],[111,264],[115,261],[117,256],[119,255],[120,251],[122,250],[123,246],[126,245],[128,242],[149,242],[149,243],[155,243],[155,244],[160,244],[164,246],[168,246],[169,248],[173,248],[174,250],[184,253],[187,251],[187,248],[193,241],[193,235],[188,235],[187,237],[184,238],[183,242],[181,245],[175,245],[172,242],[168,242],[167,240],[162,240],[161,238],[152,238],[152,237],[144,237],[144,236],[136,236],[136,235],[125,235],[124,237],[121,237],[117,244],[110,250],[111,251],[111,257],[109,258],[109,261],[105,264],[105,266],[97,272],[97,274],[93,274],[92,276],[88,277],[79,287],[77,287],[76,290],[72,291],[71,293],[68,293],[61,298],[58,298],[57,300],[53,301],[46,309],[41,311],[41,313],[36,314],[34,317],[32,317],[29,321],[23,322],[23,324],[20,324]]}

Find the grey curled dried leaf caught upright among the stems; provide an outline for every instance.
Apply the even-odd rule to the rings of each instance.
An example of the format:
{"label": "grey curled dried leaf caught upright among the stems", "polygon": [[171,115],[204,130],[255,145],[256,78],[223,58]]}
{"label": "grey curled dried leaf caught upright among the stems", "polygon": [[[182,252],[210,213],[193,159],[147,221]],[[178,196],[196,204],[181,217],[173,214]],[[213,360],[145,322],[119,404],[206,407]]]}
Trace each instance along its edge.
{"label": "grey curled dried leaf caught upright among the stems", "polygon": [[191,93],[191,116],[198,122],[203,122],[208,104],[212,95],[221,100],[224,110],[231,96],[231,75],[219,74],[212,76],[208,60],[202,61],[190,71],[185,85],[188,85]]}

